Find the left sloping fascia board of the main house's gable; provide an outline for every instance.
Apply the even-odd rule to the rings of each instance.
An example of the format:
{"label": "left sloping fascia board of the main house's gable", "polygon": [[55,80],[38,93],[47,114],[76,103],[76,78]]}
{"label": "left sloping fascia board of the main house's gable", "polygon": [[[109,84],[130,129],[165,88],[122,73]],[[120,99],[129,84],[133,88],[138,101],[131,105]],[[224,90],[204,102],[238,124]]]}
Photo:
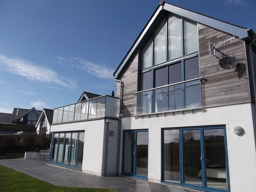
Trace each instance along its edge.
{"label": "left sloping fascia board of the main house's gable", "polygon": [[126,64],[126,62],[128,62],[129,58],[132,56],[134,51],[137,49],[138,44],[140,43],[140,41],[142,40],[142,38],[144,37],[144,35],[148,31],[148,29],[150,28],[150,26],[152,25],[152,23],[154,22],[154,20],[156,19],[156,17],[158,16],[160,11],[162,10],[162,8],[163,8],[163,6],[159,6],[158,10],[155,12],[154,16],[152,17],[152,19],[150,20],[148,25],[144,28],[143,32],[141,33],[140,37],[138,38],[138,40],[136,41],[136,43],[134,44],[134,46],[132,47],[130,52],[126,55],[126,58],[124,59],[122,64],[120,64],[118,70],[116,70],[116,72],[113,74],[115,78],[118,76],[118,74],[121,72],[121,70],[124,67],[124,65]]}

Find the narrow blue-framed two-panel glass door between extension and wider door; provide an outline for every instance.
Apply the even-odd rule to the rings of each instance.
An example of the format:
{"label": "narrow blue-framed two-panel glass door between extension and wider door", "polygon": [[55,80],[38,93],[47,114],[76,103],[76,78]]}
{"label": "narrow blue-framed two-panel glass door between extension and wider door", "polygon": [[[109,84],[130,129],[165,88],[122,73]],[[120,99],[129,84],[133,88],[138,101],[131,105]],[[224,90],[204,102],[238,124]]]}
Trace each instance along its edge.
{"label": "narrow blue-framed two-panel glass door between extension and wider door", "polygon": [[122,174],[148,178],[148,130],[124,131]]}

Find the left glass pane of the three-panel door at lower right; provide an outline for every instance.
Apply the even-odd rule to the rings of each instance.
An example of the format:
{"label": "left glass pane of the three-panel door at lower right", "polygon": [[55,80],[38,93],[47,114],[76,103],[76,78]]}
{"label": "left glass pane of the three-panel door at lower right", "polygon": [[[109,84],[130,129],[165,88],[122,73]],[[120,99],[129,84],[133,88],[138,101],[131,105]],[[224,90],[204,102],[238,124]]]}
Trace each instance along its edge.
{"label": "left glass pane of the three-panel door at lower right", "polygon": [[179,130],[164,130],[164,180],[180,182]]}

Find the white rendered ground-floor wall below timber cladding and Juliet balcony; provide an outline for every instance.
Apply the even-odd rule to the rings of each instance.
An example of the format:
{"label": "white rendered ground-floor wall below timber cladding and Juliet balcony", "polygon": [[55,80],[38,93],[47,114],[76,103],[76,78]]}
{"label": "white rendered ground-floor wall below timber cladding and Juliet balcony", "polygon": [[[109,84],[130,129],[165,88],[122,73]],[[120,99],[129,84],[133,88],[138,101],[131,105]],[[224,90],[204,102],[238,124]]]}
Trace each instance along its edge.
{"label": "white rendered ground-floor wall below timber cladding and Juliet balcony", "polygon": [[[122,118],[122,130],[148,129],[148,179],[161,180],[161,128],[226,125],[230,189],[232,192],[252,192],[256,189],[256,149],[252,122],[252,105],[239,104],[177,113],[174,116]],[[245,130],[243,136],[234,127]],[[121,137],[122,139],[122,137]],[[122,142],[121,142],[122,144]],[[120,148],[122,154],[122,147]],[[120,171],[122,155],[120,155]]]}

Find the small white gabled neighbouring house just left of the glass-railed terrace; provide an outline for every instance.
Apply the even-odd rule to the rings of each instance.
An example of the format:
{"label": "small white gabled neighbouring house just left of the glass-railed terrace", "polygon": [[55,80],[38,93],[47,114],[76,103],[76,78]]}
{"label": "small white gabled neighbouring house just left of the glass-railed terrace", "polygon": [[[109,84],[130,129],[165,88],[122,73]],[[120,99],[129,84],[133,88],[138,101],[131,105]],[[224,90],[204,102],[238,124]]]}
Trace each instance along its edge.
{"label": "small white gabled neighbouring house just left of the glass-railed terrace", "polygon": [[43,109],[41,115],[36,122],[36,132],[39,135],[50,133],[50,124],[52,124],[53,110]]}

